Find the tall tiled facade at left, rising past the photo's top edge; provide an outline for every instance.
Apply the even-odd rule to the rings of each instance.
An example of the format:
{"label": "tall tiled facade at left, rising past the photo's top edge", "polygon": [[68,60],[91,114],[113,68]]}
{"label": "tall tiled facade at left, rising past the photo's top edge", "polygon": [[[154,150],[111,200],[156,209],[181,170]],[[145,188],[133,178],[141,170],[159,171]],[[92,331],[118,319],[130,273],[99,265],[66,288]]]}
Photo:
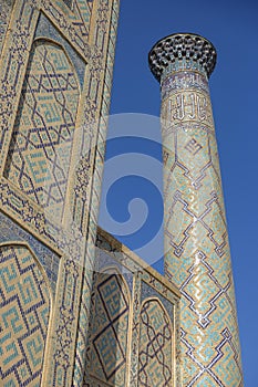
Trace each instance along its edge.
{"label": "tall tiled facade at left, rising past the photo's top edge", "polygon": [[82,386],[118,1],[0,11],[0,384]]}

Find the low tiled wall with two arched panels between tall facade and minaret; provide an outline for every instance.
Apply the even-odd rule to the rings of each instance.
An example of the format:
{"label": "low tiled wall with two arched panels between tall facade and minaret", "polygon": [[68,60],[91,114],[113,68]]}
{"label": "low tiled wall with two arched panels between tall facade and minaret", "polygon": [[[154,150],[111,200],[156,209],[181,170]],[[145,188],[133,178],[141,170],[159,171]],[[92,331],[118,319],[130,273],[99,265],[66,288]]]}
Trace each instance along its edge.
{"label": "low tiled wall with two arched panels between tall facade and minaret", "polygon": [[[101,229],[99,229],[97,233],[96,248],[96,268],[102,273],[100,271],[94,273],[91,306],[92,320],[89,327],[90,335],[83,386],[179,387],[179,299],[175,293],[178,290],[172,287],[173,285],[154,270],[146,269],[144,262]],[[123,274],[117,274],[118,272]],[[121,281],[122,278],[124,279],[123,281]],[[131,285],[132,280],[133,286]],[[121,285],[117,286],[117,283],[121,283]],[[124,283],[124,286],[126,283],[126,286],[123,287],[122,283]],[[107,301],[112,300],[112,302],[105,303],[105,306],[100,295],[102,284],[109,284]],[[131,313],[128,314],[128,326],[126,330],[128,343],[125,345],[125,341],[124,343],[121,342],[123,343],[122,348],[124,348],[122,349],[121,345],[115,342],[114,347],[116,347],[116,351],[109,352],[112,356],[107,357],[107,364],[113,364],[111,369],[114,369],[115,364],[121,364],[122,353],[124,353],[127,370],[123,380],[118,377],[118,374],[113,380],[104,381],[99,370],[102,367],[100,368],[97,365],[96,355],[93,359],[91,358],[92,351],[96,354],[93,341],[95,341],[95,337],[99,341],[96,332],[101,327],[107,332],[109,318],[106,318],[106,311],[109,311],[110,305],[115,318],[121,313],[124,313],[126,302],[123,289],[130,290],[130,292],[127,291],[127,297]],[[113,290],[117,290],[117,293],[112,292]],[[97,323],[95,323],[94,315],[96,315]],[[123,332],[124,324],[120,323],[118,325]],[[172,343],[175,343],[175,348]],[[105,344],[104,347],[105,351],[103,353],[105,354],[109,344]],[[95,365],[97,365],[99,376],[94,369]],[[94,369],[93,373],[92,369]],[[95,377],[92,377],[92,375],[95,375]]]}

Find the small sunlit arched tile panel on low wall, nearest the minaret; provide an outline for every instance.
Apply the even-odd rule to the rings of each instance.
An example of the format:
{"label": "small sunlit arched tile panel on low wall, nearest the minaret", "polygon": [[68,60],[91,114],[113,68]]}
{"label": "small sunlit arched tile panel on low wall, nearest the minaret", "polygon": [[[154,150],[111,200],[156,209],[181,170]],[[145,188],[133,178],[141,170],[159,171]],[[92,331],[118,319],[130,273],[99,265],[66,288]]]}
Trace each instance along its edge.
{"label": "small sunlit arched tile panel on low wall, nearest the minaret", "polygon": [[141,310],[138,386],[173,386],[171,320],[158,300]]}

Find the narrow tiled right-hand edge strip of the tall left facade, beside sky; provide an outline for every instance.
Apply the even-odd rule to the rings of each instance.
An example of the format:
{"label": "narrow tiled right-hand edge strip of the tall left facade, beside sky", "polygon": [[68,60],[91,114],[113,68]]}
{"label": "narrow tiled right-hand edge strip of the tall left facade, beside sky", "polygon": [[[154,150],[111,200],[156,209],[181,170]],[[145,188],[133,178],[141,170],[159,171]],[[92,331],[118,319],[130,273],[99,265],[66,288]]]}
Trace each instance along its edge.
{"label": "narrow tiled right-hand edge strip of the tall left facade, beside sky", "polygon": [[[110,100],[111,100],[111,87],[112,87],[112,75],[113,75],[113,63],[115,55],[115,42],[116,42],[116,31],[117,31],[117,22],[118,22],[118,11],[120,11],[120,1],[114,0],[113,2],[109,2],[110,8],[106,7],[106,1],[100,1],[100,7],[97,9],[97,25],[100,27],[100,31],[103,29],[109,30],[109,40],[105,34],[103,38],[106,39],[106,66],[104,72],[104,85],[101,88],[101,84],[99,82],[99,72],[100,72],[100,59],[96,56],[96,67],[91,72],[93,82],[90,83],[89,95],[91,98],[96,98],[96,93],[102,96],[100,102],[101,112],[100,112],[100,127],[97,133],[97,153],[96,153],[96,161],[97,166],[94,170],[94,195],[91,198],[92,202],[92,211],[90,218],[90,227],[89,227],[89,240],[87,240],[87,262],[93,266],[93,258],[95,258],[95,234],[96,234],[96,224],[97,224],[97,215],[100,207],[100,196],[101,196],[101,181],[102,181],[102,166],[104,164],[104,144],[106,137],[106,127],[107,127],[107,116],[110,109]],[[110,25],[106,21],[110,20]],[[102,35],[102,32],[101,32]],[[105,40],[100,39],[100,36],[95,35],[95,45],[100,46],[102,51],[102,46]],[[97,103],[91,103],[94,109],[97,106]],[[89,112],[84,113],[86,119],[91,122],[91,114]],[[86,127],[89,124],[85,124]],[[91,139],[89,139],[90,143]],[[87,139],[84,139],[86,144]],[[78,200],[75,198],[75,203],[78,203],[79,208],[83,208],[82,200]],[[81,222],[79,220],[79,222]],[[81,222],[82,224],[82,222]],[[82,224],[83,229],[83,224]],[[89,266],[87,266],[89,268]],[[91,270],[85,270],[84,272],[84,282],[83,282],[83,299],[90,300],[91,297]],[[76,347],[76,357],[75,357],[75,367],[74,367],[74,379],[78,385],[83,383],[84,377],[84,364],[86,358],[86,341],[85,341],[85,326],[89,324],[89,315],[90,315],[90,306],[87,303],[81,304],[80,311],[80,323],[79,323],[79,335],[78,335],[78,347]],[[84,328],[82,328],[84,327]]]}

